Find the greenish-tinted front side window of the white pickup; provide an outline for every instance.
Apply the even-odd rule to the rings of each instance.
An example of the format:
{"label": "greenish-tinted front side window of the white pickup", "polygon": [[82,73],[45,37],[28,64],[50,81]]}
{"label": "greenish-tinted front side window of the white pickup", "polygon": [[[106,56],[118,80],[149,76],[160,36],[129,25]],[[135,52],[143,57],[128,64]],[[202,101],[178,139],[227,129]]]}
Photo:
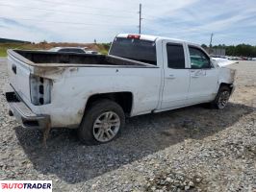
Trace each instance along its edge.
{"label": "greenish-tinted front side window of the white pickup", "polygon": [[211,68],[210,58],[200,49],[189,46],[192,69]]}

